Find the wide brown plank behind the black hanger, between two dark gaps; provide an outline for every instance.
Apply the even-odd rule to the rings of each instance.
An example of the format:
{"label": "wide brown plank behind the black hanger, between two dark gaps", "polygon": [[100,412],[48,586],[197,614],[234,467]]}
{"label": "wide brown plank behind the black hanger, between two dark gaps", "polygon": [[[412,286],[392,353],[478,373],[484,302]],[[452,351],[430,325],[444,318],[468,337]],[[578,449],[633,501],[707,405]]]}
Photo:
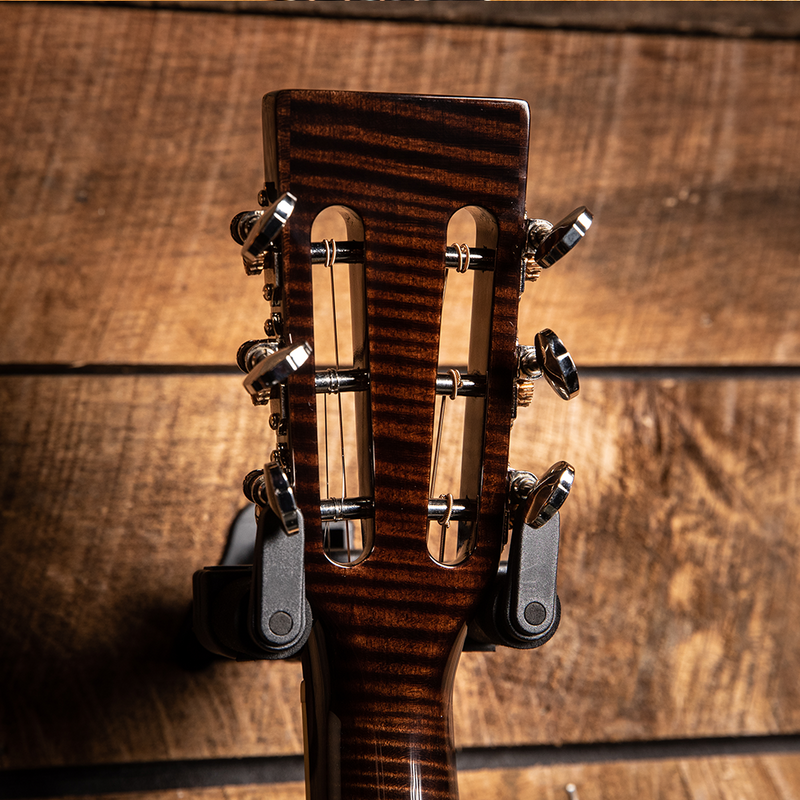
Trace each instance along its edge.
{"label": "wide brown plank behind the black hanger, between two dark gaps", "polygon": [[[269,449],[233,377],[6,377],[2,765],[302,749],[300,670],[169,660],[194,569]],[[517,422],[514,467],[579,465],[564,617],[535,652],[468,653],[459,746],[800,728],[792,381],[585,381]]]}

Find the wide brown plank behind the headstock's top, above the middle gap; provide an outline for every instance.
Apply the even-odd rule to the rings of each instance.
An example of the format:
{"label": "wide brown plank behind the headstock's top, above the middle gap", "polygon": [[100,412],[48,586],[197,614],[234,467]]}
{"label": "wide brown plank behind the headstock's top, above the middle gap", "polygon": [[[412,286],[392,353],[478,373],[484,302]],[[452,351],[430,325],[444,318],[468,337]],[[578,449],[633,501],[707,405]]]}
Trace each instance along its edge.
{"label": "wide brown plank behind the headstock's top, above the middle gap", "polygon": [[[0,360],[229,363],[230,217],[283,87],[520,97],[528,207],[585,202],[526,297],[589,364],[796,364],[800,44],[13,4],[0,29]],[[214,42],[209,48],[208,42]]]}

